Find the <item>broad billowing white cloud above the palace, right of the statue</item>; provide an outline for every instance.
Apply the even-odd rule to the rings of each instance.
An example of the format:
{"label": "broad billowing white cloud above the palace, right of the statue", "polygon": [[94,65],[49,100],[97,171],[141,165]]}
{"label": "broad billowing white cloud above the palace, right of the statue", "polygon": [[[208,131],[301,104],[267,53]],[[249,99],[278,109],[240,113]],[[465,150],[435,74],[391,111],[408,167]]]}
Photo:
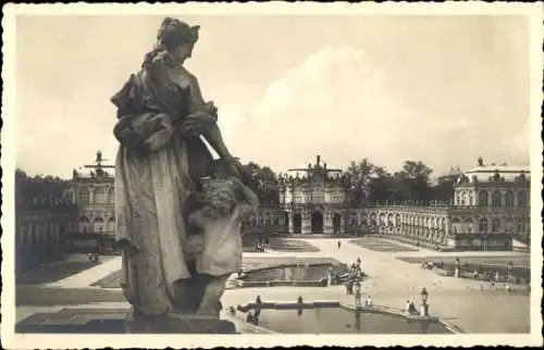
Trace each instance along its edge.
{"label": "broad billowing white cloud above the palace, right of the statue", "polygon": [[[482,154],[500,162],[526,158],[529,128],[516,135],[514,125],[497,124],[506,112],[497,114],[484,100],[472,108],[470,93],[461,93],[468,100],[444,96],[417,79],[411,89],[397,88],[395,79],[363,50],[314,52],[271,83],[259,103],[228,110],[227,142],[243,160],[282,172],[316,154],[331,166],[369,158],[391,171],[421,160],[435,173],[468,166]],[[415,98],[422,91],[426,99]]]}

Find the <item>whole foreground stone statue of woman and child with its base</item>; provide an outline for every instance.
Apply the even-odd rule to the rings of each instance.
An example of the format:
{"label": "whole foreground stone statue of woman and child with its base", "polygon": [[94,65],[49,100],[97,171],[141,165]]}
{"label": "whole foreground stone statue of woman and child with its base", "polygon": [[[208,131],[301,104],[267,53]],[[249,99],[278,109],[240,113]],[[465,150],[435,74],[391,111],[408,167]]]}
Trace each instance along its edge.
{"label": "whole foreground stone statue of woman and child with its base", "polygon": [[128,332],[226,332],[220,298],[242,263],[239,223],[258,205],[223,142],[218,109],[183,66],[198,32],[164,18],[156,48],[111,99],[120,142],[115,238],[133,307]]}

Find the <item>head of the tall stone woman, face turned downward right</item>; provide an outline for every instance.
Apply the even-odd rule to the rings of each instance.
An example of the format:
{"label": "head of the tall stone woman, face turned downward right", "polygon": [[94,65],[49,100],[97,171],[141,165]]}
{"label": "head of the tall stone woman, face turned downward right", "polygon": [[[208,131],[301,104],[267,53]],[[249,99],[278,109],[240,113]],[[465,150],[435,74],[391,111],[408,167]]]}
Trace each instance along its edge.
{"label": "head of the tall stone woman, face turned downward right", "polygon": [[198,41],[199,29],[199,25],[190,26],[180,20],[165,17],[157,33],[157,40],[176,60],[183,62],[193,54],[193,48]]}

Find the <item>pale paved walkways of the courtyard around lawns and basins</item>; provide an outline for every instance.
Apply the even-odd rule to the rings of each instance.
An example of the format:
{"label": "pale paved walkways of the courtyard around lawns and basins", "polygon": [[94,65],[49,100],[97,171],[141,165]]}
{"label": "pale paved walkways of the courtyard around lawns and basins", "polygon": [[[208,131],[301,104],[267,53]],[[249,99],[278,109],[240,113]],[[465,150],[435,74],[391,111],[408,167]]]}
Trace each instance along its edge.
{"label": "pale paved walkways of the courtyard around lawns and basins", "polygon": [[[399,257],[523,257],[520,252],[438,252],[429,249],[412,248],[395,250],[394,247],[406,247],[405,243],[388,241],[386,239],[368,239],[369,245],[387,246],[386,251],[376,251],[363,248],[363,246],[349,242],[354,238],[343,239],[298,239],[307,241],[318,248],[316,252],[247,252],[244,258],[333,258],[341,262],[351,264],[360,258],[361,267],[369,279],[363,283],[366,296],[372,296],[375,304],[392,308],[404,308],[407,300],[420,303],[420,291],[425,288],[429,291],[429,303],[431,314],[441,316],[452,324],[468,333],[529,333],[530,332],[530,298],[528,291],[506,292],[504,289],[492,288],[481,282],[440,276],[432,271],[420,268],[418,264],[410,264],[397,258]],[[338,249],[337,241],[342,241]],[[529,259],[529,258],[528,258]],[[87,271],[81,272],[62,280],[41,287],[40,293],[47,289],[65,289],[67,293],[88,292],[88,299],[94,300],[94,292],[106,291],[91,284],[121,268],[121,258],[115,257]],[[113,290],[119,296],[103,299],[109,302],[85,303],[81,307],[96,308],[120,308],[126,307],[120,289]],[[36,290],[35,290],[36,292]],[[38,295],[36,292],[36,295]],[[260,295],[262,300],[294,301],[298,296],[305,300],[334,299],[347,303],[354,302],[353,296],[346,296],[343,286],[326,288],[313,287],[272,287],[272,288],[242,288],[225,291],[223,304],[236,305],[249,300],[255,300]],[[61,304],[51,307],[18,305],[17,321],[21,321],[36,312],[54,312],[65,308]],[[74,308],[74,305],[70,305]]]}

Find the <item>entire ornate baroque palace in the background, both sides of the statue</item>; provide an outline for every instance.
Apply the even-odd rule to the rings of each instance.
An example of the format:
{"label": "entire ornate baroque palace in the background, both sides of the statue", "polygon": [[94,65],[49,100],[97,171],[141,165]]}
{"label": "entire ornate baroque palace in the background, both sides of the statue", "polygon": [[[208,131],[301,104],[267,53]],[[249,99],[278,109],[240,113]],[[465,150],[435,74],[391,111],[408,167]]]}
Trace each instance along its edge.
{"label": "entire ornate baroque palace in the background, both sides of the statue", "polygon": [[[26,209],[26,214],[17,217],[25,223],[36,222],[33,217],[58,222],[53,226],[65,233],[62,235],[72,249],[112,250],[113,166],[104,165],[103,161],[98,152],[95,164],[84,166],[86,171],[74,170],[72,187],[62,201],[65,204],[45,202],[39,205],[46,209]],[[379,235],[460,250],[509,250],[512,238],[529,241],[529,166],[484,165],[480,159],[475,167],[456,176],[454,198],[449,202],[359,207],[348,204],[348,177],[341,170],[327,167],[319,155],[313,164],[290,171],[290,175],[279,177],[280,205],[261,205],[246,217],[242,223],[245,234]],[[55,214],[51,208],[57,208]],[[21,230],[20,246],[49,239],[38,238],[51,235],[45,234],[50,232],[47,225],[45,230],[27,224],[21,226],[25,228],[17,229]]]}

